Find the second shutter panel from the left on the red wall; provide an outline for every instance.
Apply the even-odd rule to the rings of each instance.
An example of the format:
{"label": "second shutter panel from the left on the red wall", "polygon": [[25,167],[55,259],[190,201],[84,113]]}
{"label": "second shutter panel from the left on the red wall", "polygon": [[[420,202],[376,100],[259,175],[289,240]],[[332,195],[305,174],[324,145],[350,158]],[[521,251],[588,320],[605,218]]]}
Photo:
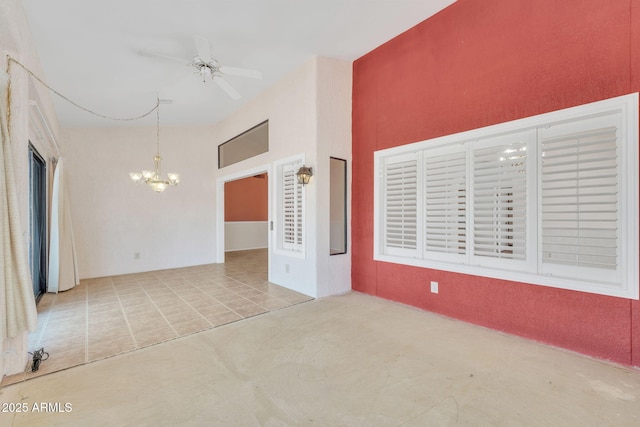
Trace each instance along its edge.
{"label": "second shutter panel from the left on the red wall", "polygon": [[460,147],[424,152],[425,257],[455,260],[466,254],[466,171]]}

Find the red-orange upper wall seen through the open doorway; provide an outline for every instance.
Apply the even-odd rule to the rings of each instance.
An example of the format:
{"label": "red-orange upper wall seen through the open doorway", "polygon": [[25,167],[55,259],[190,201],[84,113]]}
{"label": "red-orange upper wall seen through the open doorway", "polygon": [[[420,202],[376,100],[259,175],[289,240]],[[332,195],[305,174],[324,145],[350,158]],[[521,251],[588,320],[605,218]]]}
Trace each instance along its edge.
{"label": "red-orange upper wall seen through the open doorway", "polygon": [[224,185],[224,220],[267,221],[269,179],[266,174],[230,181]]}

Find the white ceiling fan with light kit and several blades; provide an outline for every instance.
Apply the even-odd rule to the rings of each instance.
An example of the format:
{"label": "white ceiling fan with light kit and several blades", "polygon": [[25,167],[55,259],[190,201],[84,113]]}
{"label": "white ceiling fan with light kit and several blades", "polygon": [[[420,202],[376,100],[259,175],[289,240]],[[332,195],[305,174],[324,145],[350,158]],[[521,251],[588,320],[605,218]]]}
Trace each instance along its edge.
{"label": "white ceiling fan with light kit and several blades", "polygon": [[242,96],[233,86],[231,86],[231,84],[229,84],[228,81],[224,79],[225,75],[262,79],[262,73],[260,71],[220,65],[220,63],[211,56],[210,43],[205,37],[196,34],[193,36],[193,41],[195,42],[197,55],[194,56],[191,61],[185,61],[161,54],[147,55],[178,61],[182,64],[195,68],[195,72],[200,75],[203,82],[213,80],[232,99],[240,99]]}

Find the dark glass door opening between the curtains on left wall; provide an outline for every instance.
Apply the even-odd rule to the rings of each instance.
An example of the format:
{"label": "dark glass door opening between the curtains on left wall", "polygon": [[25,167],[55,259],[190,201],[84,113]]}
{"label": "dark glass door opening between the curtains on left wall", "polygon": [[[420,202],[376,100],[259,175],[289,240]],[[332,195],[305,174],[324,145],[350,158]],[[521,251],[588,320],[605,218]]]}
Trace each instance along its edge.
{"label": "dark glass door opening between the curtains on left wall", "polygon": [[29,144],[29,265],[36,302],[47,291],[47,164]]}

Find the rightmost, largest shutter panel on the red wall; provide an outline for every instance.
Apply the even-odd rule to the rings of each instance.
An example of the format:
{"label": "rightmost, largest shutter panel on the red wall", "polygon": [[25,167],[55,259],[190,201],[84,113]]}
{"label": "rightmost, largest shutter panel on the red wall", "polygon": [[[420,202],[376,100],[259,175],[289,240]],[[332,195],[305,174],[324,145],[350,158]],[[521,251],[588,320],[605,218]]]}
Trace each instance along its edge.
{"label": "rightmost, largest shutter panel on the red wall", "polygon": [[617,128],[542,140],[542,262],[617,268]]}

